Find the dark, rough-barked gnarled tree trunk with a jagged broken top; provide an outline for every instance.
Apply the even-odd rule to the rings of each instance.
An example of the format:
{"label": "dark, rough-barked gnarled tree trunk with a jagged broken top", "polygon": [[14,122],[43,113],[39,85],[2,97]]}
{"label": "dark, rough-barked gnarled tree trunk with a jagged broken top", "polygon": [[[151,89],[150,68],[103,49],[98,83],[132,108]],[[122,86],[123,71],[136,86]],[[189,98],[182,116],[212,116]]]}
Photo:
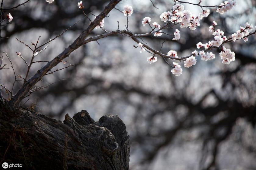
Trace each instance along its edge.
{"label": "dark, rough-barked gnarled tree trunk with a jagged broken top", "polygon": [[0,157],[24,169],[129,169],[130,141],[116,115],[95,122],[86,110],[64,123],[0,102]]}

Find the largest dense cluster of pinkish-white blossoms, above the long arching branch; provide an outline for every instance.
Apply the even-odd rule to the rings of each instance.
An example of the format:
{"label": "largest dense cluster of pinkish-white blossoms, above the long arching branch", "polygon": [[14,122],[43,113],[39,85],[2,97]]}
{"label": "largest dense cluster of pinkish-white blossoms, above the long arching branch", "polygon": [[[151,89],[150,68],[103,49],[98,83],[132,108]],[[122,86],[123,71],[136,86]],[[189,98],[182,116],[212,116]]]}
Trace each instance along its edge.
{"label": "largest dense cluster of pinkish-white blossoms, above the long arching branch", "polygon": [[210,10],[204,10],[202,13],[199,13],[198,16],[192,14],[190,10],[184,10],[184,6],[181,4],[175,4],[172,6],[173,11],[163,12],[160,15],[160,19],[163,22],[178,22],[181,23],[180,28],[189,27],[191,30],[195,30],[197,26],[200,25],[200,20],[203,17],[207,17],[210,14]]}

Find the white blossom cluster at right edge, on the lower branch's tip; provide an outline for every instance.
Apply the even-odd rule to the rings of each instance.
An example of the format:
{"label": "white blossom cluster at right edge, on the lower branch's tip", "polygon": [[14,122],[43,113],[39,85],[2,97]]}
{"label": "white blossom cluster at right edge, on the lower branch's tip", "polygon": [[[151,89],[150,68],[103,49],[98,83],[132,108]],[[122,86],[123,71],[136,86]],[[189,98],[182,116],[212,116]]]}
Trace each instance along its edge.
{"label": "white blossom cluster at right edge, on the lower branch's tip", "polygon": [[236,33],[233,33],[232,40],[235,42],[237,39],[244,39],[244,42],[248,41],[248,37],[244,37],[250,34],[250,32],[253,30],[253,25],[246,22],[245,28],[240,26],[240,30],[237,30]]}

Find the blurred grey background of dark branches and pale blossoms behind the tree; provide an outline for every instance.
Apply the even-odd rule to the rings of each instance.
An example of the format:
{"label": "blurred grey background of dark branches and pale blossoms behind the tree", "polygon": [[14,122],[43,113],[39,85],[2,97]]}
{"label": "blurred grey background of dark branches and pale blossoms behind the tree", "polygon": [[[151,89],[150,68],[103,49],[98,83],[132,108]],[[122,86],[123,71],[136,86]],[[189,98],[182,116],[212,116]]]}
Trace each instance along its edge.
{"label": "blurred grey background of dark branches and pale blossoms behind the tree", "polygon": [[[24,1],[5,1],[5,7],[20,2]],[[129,29],[144,33],[149,31],[149,27],[141,25],[144,17],[149,16],[152,22],[163,25],[159,16],[173,5],[171,0],[153,2],[159,9],[154,8],[150,0],[123,0],[116,8],[123,10],[124,5],[132,5]],[[203,4],[219,5],[221,2],[205,0]],[[213,20],[226,36],[246,22],[256,24],[256,1],[236,2],[236,7],[223,15],[211,8],[210,15],[195,31],[178,26],[169,29],[170,34],[175,29],[180,30],[179,41],[172,41],[173,37],[168,35],[148,36],[144,41],[160,49],[166,39],[163,53],[172,49],[178,56],[186,56],[196,49],[197,42],[213,39],[208,31]],[[108,0],[86,0],[83,5],[86,13],[97,15],[107,3]],[[197,6],[184,6],[194,14],[201,12]],[[77,2],[70,0],[55,0],[52,4],[32,0],[9,12],[13,16],[12,24],[3,27],[1,33],[2,37],[9,38],[2,38],[0,47],[9,54],[16,73],[22,76],[27,68],[16,52],[21,52],[27,61],[32,53],[16,37],[31,45],[31,41],[36,42],[41,36],[39,44],[42,44],[84,17]],[[105,18],[104,28],[116,30],[117,21],[119,29],[125,29],[126,17],[114,9]],[[53,59],[88,24],[87,19],[78,22],[54,40],[36,61]],[[102,33],[97,29],[91,36]],[[256,169],[255,42],[256,36],[250,36],[246,43],[240,40],[226,44],[236,53],[236,60],[229,65],[221,63],[220,51],[214,49],[214,60],[205,62],[198,58],[197,64],[190,68],[182,64],[183,74],[175,77],[170,71],[172,68],[160,57],[150,65],[146,60],[150,54],[135,49],[136,43],[129,37],[107,37],[98,40],[99,44],[90,42],[73,52],[66,64],[60,63],[55,69],[80,64],[45,76],[37,87],[58,82],[33,93],[22,103],[30,98],[24,107],[59,120],[64,120],[67,113],[72,116],[80,110],[87,110],[95,121],[105,114],[119,115],[131,139],[131,170]],[[3,63],[10,67],[8,62],[4,56]],[[30,76],[44,64],[34,64]],[[59,81],[61,79],[66,80]],[[11,88],[13,81],[11,69],[0,71],[0,83]],[[21,83],[16,83],[14,91],[20,86]]]}

